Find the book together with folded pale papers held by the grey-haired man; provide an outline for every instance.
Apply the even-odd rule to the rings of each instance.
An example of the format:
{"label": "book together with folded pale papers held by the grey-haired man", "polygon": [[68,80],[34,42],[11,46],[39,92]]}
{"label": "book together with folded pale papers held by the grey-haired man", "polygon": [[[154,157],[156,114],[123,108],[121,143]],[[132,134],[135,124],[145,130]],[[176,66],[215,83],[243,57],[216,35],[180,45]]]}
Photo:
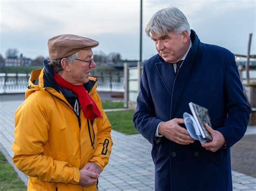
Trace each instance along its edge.
{"label": "book together with folded pale papers held by the grey-haired man", "polygon": [[193,102],[188,103],[188,105],[193,116],[184,112],[183,118],[190,136],[199,140],[201,143],[212,140],[211,134],[205,128],[205,123],[212,126],[208,109]]}

